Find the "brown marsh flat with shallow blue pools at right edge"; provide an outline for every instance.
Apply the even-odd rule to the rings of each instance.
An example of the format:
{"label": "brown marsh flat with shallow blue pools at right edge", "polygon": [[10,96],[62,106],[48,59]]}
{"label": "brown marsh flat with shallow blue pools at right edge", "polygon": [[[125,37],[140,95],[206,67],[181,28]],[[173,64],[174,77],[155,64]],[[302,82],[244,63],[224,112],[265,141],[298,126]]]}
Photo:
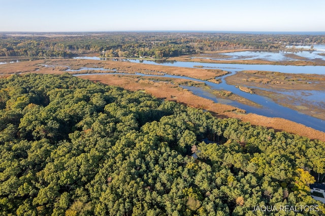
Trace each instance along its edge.
{"label": "brown marsh flat with shallow blue pools at right edge", "polygon": [[[256,94],[271,98],[293,110],[325,120],[324,99],[312,97],[315,92],[324,92],[325,75],[246,70],[225,80],[231,85],[241,83],[254,89]],[[309,96],[311,99],[307,100],[299,95]]]}

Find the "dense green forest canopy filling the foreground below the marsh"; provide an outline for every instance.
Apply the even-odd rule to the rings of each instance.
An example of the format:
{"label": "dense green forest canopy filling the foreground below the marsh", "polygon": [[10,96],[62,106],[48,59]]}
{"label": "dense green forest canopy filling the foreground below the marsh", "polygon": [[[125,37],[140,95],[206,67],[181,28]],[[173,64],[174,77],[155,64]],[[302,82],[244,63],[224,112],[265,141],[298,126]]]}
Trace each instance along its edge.
{"label": "dense green forest canopy filling the foreground below the marsh", "polygon": [[324,151],[68,74],[0,80],[1,215],[319,215]]}

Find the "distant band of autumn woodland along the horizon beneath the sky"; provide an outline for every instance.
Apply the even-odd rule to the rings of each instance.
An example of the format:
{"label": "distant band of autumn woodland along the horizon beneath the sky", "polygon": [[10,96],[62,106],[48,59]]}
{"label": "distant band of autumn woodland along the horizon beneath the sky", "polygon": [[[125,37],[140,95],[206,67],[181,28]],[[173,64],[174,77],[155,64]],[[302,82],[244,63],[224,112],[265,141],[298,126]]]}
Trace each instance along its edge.
{"label": "distant band of autumn woodland along the horizon beneath the sky", "polygon": [[84,34],[0,34],[0,56],[173,57],[204,51],[284,49],[286,45],[324,44],[324,35],[106,32]]}

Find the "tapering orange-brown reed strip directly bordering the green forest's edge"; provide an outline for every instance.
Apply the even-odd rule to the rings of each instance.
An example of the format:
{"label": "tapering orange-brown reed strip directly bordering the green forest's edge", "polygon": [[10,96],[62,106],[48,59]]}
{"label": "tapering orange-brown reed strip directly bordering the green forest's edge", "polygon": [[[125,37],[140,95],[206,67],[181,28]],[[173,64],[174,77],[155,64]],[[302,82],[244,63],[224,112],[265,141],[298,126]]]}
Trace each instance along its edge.
{"label": "tapering orange-brown reed strip directly bordering the green forest's edge", "polygon": [[188,105],[190,107],[207,110],[217,118],[236,118],[244,122],[249,122],[255,126],[264,126],[267,128],[273,128],[276,131],[286,131],[289,133],[305,136],[310,139],[319,139],[321,141],[325,141],[325,132],[282,118],[265,117],[252,113],[245,114],[245,111],[234,106],[215,103],[212,100],[194,95],[187,90],[178,89],[173,85],[161,86],[159,83],[152,81],[151,83],[149,81],[134,82],[134,79],[138,78],[123,78],[122,76],[118,75],[87,75],[80,76],[80,78],[95,82],[101,82],[107,85],[119,86],[131,91],[144,90],[152,96],[160,99],[167,99]]}

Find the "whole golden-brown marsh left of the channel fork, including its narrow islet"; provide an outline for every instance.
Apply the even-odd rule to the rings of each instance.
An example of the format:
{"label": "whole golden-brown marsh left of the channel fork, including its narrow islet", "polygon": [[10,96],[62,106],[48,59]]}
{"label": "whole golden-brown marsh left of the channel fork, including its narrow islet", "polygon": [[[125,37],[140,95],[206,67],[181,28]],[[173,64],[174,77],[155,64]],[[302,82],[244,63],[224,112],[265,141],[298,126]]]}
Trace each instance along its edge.
{"label": "whole golden-brown marsh left of the channel fork, including its narrow islet", "polygon": [[[101,60],[46,59],[3,64],[0,65],[0,74],[5,77],[12,74],[27,73],[64,74],[67,73],[66,70],[68,68],[71,69],[71,71],[68,71],[68,73],[81,75],[78,77],[82,79],[119,86],[131,91],[145,91],[157,98],[176,101],[191,107],[207,110],[219,118],[237,118],[241,119],[242,121],[250,122],[253,125],[266,126],[276,130],[284,130],[302,136],[307,136],[312,139],[316,138],[325,140],[324,132],[282,118],[270,118],[251,113],[245,114],[245,110],[238,109],[237,107],[228,104],[216,103],[210,99],[194,95],[191,91],[180,87],[180,85],[197,86],[206,89],[219,98],[236,100],[251,106],[259,106],[258,104],[240,97],[233,92],[225,90],[211,90],[203,83],[203,81],[225,74],[222,70],[179,67],[171,68],[169,66],[161,65],[146,65],[130,62]],[[83,70],[82,68],[94,69]],[[105,68],[108,70],[95,70],[95,68]],[[200,73],[197,73],[196,70],[198,70]],[[153,75],[154,77],[143,77],[136,75],[136,73],[139,72],[147,75]],[[105,74],[101,75],[101,73]],[[106,73],[111,73],[111,75]],[[165,78],[161,76],[161,74],[177,75],[184,78],[192,77],[202,80],[202,82],[188,81],[186,79]],[[233,76],[230,76],[230,78],[231,77]],[[228,79],[226,80],[228,82]]]}

